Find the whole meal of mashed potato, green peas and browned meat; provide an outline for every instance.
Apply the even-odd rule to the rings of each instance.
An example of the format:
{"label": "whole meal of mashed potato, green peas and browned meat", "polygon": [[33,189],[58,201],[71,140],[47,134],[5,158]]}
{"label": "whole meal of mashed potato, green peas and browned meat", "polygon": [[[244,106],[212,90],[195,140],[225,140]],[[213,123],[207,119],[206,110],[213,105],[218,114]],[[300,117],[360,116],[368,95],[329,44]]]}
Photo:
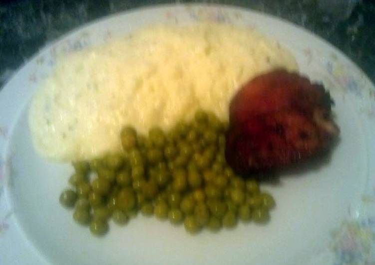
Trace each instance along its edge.
{"label": "whole meal of mashed potato, green peas and browned meat", "polygon": [[41,155],[72,161],[60,203],[95,235],[138,212],[191,233],[264,223],[275,200],[257,174],[339,133],[330,95],[297,71],[253,29],[151,26],[59,58],[33,98],[30,132]]}

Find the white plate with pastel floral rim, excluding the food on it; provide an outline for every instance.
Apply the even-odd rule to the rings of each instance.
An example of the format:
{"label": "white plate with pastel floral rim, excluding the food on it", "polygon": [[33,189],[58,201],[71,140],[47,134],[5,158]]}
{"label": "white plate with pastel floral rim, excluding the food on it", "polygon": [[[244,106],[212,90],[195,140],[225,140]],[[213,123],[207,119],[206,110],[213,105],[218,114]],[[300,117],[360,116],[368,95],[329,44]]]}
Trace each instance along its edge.
{"label": "white plate with pastel floral rim, excluding the food on it", "polygon": [[[99,44],[145,24],[214,20],[245,24],[278,39],[302,73],[331,91],[341,140],[331,160],[266,186],[277,200],[266,226],[240,224],[218,234],[138,217],[104,238],[73,223],[59,206],[71,167],[41,159],[27,107],[55,55]],[[142,8],[81,27],[44,48],[0,93],[0,264],[374,264],[375,88],[340,51],[280,19],[218,5]]]}

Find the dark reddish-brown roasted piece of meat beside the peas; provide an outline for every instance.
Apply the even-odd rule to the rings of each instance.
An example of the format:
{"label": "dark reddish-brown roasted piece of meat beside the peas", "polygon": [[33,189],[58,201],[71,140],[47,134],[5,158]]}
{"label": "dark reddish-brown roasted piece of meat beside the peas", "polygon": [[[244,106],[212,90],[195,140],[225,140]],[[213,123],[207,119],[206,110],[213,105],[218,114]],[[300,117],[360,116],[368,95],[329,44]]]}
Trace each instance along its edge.
{"label": "dark reddish-brown roasted piece of meat beside the peas", "polygon": [[273,170],[327,150],[340,133],[329,92],[275,70],[248,82],[230,104],[225,156],[238,173]]}

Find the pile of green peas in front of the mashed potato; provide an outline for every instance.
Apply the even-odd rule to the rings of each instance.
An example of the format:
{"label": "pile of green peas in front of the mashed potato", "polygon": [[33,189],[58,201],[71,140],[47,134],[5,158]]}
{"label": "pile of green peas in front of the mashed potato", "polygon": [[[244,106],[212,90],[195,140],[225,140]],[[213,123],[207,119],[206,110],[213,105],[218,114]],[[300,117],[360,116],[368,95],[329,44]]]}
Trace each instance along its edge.
{"label": "pile of green peas in front of the mashed potato", "polygon": [[73,162],[73,188],[61,193],[60,203],[74,207],[73,219],[94,235],[104,235],[110,219],[125,225],[138,212],[184,224],[192,234],[234,228],[238,220],[265,223],[275,201],[226,163],[226,129],[202,110],[169,132],[154,127],[145,136],[124,127],[123,153]]}

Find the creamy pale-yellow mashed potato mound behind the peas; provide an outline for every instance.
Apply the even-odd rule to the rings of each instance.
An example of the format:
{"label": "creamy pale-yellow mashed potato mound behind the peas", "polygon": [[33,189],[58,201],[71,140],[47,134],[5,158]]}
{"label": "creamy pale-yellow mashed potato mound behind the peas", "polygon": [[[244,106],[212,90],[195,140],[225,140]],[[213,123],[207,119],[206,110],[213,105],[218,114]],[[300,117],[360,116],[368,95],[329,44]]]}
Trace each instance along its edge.
{"label": "creamy pale-yellow mashed potato mound behind the peas", "polygon": [[290,52],[259,32],[225,24],[157,25],[60,58],[33,97],[29,127],[38,152],[67,161],[121,149],[132,125],[169,129],[198,108],[228,119],[249,79],[296,70]]}

